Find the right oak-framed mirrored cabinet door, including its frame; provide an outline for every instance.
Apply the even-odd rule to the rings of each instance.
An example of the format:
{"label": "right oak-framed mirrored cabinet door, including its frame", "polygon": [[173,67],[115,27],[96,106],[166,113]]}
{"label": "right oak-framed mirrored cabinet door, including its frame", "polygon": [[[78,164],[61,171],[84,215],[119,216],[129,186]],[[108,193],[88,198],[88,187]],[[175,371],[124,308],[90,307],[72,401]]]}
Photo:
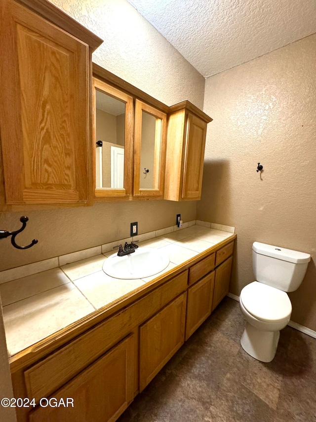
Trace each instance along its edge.
{"label": "right oak-framed mirrored cabinet door, including its frame", "polygon": [[166,114],[136,99],[134,137],[134,196],[163,194]]}

